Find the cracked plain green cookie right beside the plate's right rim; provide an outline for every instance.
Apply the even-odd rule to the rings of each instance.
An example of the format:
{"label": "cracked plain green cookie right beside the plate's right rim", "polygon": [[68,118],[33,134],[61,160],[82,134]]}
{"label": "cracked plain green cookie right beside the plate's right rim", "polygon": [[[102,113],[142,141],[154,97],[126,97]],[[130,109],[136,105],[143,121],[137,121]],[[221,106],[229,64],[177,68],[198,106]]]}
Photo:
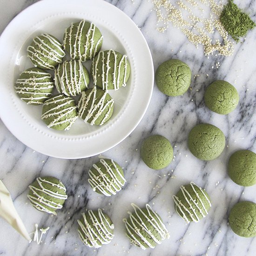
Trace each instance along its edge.
{"label": "cracked plain green cookie right beside the plate's right rim", "polygon": [[179,96],[189,89],[191,70],[180,60],[165,61],[156,70],[155,82],[162,93]]}

